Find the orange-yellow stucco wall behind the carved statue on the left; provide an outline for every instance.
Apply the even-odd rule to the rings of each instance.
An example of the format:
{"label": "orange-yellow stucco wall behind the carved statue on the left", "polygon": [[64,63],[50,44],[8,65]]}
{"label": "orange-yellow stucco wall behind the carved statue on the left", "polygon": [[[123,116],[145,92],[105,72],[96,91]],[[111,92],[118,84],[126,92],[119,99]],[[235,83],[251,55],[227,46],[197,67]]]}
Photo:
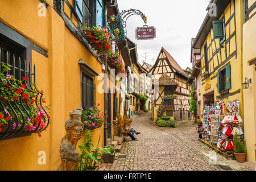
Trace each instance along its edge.
{"label": "orange-yellow stucco wall behind the carved statue on the left", "polygon": [[[32,64],[36,67],[36,84],[44,90],[44,98],[52,106],[50,124],[40,138],[32,134],[1,140],[0,170],[56,170],[60,164],[61,138],[65,135],[64,123],[69,118],[69,111],[76,109],[81,102],[78,61],[82,59],[96,72],[102,73],[101,63],[65,27],[56,11],[48,6],[46,16],[40,17],[38,5],[39,1],[0,1],[0,7],[5,7],[0,11],[0,21],[48,52],[47,58],[32,51]],[[14,10],[15,13],[10,13]],[[94,80],[96,84],[100,82]],[[97,93],[96,100],[103,111],[104,94]],[[95,145],[101,135],[102,147],[103,126],[92,132]],[[46,152],[46,165],[38,164],[39,151]]]}

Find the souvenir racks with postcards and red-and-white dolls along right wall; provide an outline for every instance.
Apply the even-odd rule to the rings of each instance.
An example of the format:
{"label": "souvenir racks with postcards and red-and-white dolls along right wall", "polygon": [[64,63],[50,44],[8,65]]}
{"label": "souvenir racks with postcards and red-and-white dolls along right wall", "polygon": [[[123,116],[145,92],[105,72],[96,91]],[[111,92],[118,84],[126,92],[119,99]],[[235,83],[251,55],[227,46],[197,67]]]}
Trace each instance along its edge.
{"label": "souvenir racks with postcards and red-and-white dolls along right wall", "polygon": [[226,157],[233,157],[234,135],[241,135],[242,118],[240,116],[240,104],[238,100],[230,101],[226,104],[226,114],[224,112],[224,102],[214,102],[205,105],[203,114],[203,137],[201,142],[220,151]]}

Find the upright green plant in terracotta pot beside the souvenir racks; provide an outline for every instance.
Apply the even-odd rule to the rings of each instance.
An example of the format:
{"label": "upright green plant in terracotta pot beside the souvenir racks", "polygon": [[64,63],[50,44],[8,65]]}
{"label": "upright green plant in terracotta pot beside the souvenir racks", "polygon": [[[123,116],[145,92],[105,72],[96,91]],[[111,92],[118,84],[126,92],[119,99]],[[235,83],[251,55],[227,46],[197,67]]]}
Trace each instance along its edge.
{"label": "upright green plant in terracotta pot beside the souvenir racks", "polygon": [[237,162],[245,162],[246,152],[246,142],[242,141],[240,136],[234,135],[234,155]]}

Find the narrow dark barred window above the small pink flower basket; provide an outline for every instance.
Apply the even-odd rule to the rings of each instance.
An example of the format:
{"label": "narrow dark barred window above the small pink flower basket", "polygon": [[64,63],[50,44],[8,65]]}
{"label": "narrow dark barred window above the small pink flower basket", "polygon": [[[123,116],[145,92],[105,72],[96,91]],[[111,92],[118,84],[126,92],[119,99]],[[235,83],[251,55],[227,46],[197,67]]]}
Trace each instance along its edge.
{"label": "narrow dark barred window above the small pink flower basket", "polygon": [[82,107],[88,109],[93,107],[96,102],[96,85],[93,78],[82,72]]}

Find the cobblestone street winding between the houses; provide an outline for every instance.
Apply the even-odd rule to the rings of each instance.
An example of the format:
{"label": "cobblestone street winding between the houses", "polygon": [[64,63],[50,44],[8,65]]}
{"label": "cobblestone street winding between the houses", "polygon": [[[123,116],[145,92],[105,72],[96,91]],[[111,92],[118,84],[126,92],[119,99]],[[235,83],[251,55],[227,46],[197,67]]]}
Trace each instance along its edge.
{"label": "cobblestone street winding between the houses", "polygon": [[[222,170],[218,165],[209,165],[210,148],[197,140],[195,125],[191,122],[176,123],[176,128],[158,127],[148,118],[151,113],[133,118],[132,126],[141,132],[138,141],[127,137],[123,142],[121,154],[113,164],[100,163],[100,170],[110,171],[214,171]],[[232,169],[255,170],[255,164],[238,164],[217,154],[217,163],[230,163]]]}

